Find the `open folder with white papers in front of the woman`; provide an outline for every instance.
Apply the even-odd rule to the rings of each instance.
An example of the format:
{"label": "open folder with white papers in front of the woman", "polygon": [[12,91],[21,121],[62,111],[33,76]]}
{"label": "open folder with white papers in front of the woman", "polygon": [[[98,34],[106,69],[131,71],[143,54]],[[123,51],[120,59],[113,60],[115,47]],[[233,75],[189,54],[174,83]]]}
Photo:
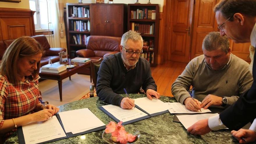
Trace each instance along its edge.
{"label": "open folder with white papers in front of the woman", "polygon": [[44,122],[18,127],[20,144],[42,144],[105,129],[88,108],[59,112]]}

